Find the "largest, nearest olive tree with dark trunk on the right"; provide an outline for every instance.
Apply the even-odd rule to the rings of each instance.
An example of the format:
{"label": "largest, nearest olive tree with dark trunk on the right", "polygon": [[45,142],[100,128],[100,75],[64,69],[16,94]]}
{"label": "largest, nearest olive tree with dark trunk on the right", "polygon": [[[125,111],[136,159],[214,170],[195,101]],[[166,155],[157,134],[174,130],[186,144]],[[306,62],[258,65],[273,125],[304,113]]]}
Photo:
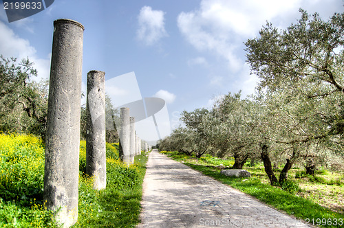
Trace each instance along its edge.
{"label": "largest, nearest olive tree with dark trunk on the right", "polygon": [[344,14],[325,22],[319,14],[300,11],[301,19],[286,30],[267,23],[258,38],[246,42],[251,72],[259,77],[258,91],[266,101],[264,125],[270,129],[262,155],[268,155],[270,144],[289,153],[279,182],[299,158],[314,152],[343,156]]}

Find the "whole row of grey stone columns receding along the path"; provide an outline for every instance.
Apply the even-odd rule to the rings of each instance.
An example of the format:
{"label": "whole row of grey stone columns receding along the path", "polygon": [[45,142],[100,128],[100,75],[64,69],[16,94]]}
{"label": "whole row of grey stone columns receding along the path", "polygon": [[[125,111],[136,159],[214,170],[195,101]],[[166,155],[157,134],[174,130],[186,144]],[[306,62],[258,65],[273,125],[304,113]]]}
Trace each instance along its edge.
{"label": "whole row of grey stone columns receding along the path", "polygon": [[[47,209],[57,212],[56,221],[63,227],[78,220],[83,31],[83,25],[76,21],[54,21],[43,197]],[[141,139],[135,133],[135,119],[129,117],[129,109],[122,108],[120,115],[121,158],[129,166],[135,155],[141,153]],[[97,190],[106,187],[105,130],[105,72],[89,71],[86,172],[94,177]],[[147,143],[144,144],[147,151]]]}

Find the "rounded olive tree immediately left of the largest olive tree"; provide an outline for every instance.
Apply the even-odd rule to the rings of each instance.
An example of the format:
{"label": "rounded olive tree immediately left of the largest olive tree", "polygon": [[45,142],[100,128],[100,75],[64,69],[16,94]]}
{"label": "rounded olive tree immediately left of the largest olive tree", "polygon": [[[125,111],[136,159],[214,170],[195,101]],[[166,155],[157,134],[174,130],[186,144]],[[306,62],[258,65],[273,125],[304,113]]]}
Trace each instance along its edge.
{"label": "rounded olive tree immediately left of the largest olive tree", "polygon": [[247,159],[255,159],[257,144],[257,121],[255,102],[241,99],[239,93],[225,95],[213,107],[211,129],[213,145],[219,157],[233,156],[233,168],[241,169]]}

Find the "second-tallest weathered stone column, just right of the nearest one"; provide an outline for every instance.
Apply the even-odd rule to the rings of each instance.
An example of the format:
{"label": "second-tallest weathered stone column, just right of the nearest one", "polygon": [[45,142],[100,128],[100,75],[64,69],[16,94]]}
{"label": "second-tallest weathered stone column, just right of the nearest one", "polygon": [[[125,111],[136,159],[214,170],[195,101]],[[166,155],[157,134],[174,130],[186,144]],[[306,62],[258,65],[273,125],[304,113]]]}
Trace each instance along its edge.
{"label": "second-tallest weathered stone column, just right of the nearest one", "polygon": [[105,72],[87,73],[86,173],[93,176],[93,188],[107,184],[105,145]]}

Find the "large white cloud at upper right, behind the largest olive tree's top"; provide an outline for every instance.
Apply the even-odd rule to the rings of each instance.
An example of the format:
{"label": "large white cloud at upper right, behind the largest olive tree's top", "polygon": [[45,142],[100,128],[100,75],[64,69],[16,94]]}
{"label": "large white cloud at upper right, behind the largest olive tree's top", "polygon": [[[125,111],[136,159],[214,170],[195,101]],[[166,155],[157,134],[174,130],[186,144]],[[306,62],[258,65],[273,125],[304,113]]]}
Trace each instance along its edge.
{"label": "large white cloud at upper right, behind the largest olive tree's top", "polygon": [[[180,33],[190,45],[204,55],[213,54],[218,68],[222,62],[228,67],[229,72],[210,67],[210,74],[213,75],[210,84],[225,86],[230,91],[241,89],[243,95],[248,95],[254,93],[258,78],[250,75],[243,42],[259,36],[259,30],[266,25],[266,21],[281,29],[297,23],[301,16],[299,8],[310,14],[319,12],[324,20],[338,12],[338,9],[343,11],[341,1],[327,1],[202,0],[197,9],[181,12],[177,22]],[[202,61],[202,58],[195,58],[189,60],[188,64],[191,66]]]}

